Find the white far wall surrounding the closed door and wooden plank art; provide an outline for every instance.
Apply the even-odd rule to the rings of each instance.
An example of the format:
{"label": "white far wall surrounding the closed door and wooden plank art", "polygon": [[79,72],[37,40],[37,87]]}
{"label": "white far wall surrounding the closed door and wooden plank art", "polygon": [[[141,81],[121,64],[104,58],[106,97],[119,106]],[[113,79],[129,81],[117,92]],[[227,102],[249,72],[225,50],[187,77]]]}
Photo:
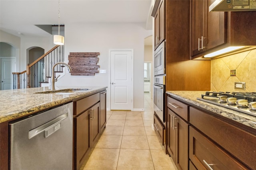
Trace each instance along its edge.
{"label": "white far wall surrounding the closed door and wooden plank art", "polygon": [[110,109],[110,49],[134,49],[134,110],[144,109],[144,38],[152,30],[142,23],[65,23],[65,62],[70,52],[99,52],[100,69],[106,74],[70,76],[67,73],[56,86],[108,86],[107,108]]}

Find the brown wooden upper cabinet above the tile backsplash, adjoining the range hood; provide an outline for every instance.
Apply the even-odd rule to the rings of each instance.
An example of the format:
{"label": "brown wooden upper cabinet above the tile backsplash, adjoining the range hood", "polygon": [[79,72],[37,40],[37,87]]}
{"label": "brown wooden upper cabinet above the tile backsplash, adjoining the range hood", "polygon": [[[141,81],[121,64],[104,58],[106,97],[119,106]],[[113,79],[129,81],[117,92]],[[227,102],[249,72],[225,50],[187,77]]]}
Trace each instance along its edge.
{"label": "brown wooden upper cabinet above the tile backsplash, adjoining the range hood", "polygon": [[190,57],[230,46],[255,46],[256,12],[209,12],[214,0],[190,0]]}

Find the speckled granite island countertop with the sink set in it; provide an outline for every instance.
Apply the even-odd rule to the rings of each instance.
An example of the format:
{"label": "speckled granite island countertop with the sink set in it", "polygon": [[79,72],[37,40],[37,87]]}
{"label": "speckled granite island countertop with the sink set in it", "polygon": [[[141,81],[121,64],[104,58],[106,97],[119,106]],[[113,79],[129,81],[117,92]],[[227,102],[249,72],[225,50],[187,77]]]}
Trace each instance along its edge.
{"label": "speckled granite island countertop with the sink set in it", "polygon": [[50,91],[48,87],[24,88],[15,90],[0,90],[0,123],[10,121],[25,115],[71,102],[76,98],[105,90],[107,87],[96,86],[58,86],[62,89],[89,89],[74,94],[35,94]]}

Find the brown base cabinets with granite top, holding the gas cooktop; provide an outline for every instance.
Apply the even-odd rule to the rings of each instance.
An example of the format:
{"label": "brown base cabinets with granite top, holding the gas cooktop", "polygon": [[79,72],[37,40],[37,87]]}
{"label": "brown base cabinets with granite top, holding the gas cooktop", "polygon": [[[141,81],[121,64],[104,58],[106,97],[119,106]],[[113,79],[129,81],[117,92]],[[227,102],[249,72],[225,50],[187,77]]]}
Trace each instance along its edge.
{"label": "brown base cabinets with granite top, holding the gas cooktop", "polygon": [[166,92],[166,147],[177,168],[256,169],[256,117],[198,100],[204,93]]}

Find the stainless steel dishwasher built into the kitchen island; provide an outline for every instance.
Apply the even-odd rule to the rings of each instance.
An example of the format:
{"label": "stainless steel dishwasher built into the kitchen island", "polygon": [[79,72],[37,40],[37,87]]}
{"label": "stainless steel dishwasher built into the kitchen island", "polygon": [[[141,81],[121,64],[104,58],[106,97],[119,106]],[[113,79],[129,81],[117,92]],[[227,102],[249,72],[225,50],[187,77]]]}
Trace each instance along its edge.
{"label": "stainless steel dishwasher built into the kitchen island", "polygon": [[72,170],[73,103],[10,123],[11,170]]}

